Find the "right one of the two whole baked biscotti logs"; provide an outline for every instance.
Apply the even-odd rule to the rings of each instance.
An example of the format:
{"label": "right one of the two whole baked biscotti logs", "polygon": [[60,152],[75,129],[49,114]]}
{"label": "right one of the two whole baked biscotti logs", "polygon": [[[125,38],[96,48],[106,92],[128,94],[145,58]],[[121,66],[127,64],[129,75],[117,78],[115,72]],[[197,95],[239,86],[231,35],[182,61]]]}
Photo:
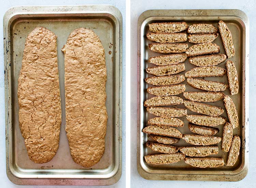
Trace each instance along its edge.
{"label": "right one of the two whole baked biscotti logs", "polygon": [[91,167],[105,150],[106,65],[99,37],[89,29],[70,33],[65,57],[66,132],[75,163]]}

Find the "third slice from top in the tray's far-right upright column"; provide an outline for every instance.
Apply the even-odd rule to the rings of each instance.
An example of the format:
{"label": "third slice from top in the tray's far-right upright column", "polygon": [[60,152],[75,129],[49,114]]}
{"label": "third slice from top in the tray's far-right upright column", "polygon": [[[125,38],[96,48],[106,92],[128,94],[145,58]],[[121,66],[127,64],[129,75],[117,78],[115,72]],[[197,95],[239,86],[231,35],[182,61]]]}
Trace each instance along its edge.
{"label": "third slice from top in the tray's far-right upright column", "polygon": [[226,108],[229,123],[232,125],[234,129],[238,127],[239,124],[236,106],[234,105],[232,99],[227,95],[224,96],[223,102]]}

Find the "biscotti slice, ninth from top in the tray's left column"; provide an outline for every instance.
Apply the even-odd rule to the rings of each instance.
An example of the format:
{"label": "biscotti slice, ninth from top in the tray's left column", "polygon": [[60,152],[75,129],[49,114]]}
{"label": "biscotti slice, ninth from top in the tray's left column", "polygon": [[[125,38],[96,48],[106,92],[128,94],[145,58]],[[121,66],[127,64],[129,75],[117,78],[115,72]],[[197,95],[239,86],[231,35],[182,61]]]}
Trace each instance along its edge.
{"label": "biscotti slice, ninth from top in the tray's left column", "polygon": [[154,114],[156,116],[182,117],[187,114],[187,109],[150,106],[147,107],[147,112]]}

